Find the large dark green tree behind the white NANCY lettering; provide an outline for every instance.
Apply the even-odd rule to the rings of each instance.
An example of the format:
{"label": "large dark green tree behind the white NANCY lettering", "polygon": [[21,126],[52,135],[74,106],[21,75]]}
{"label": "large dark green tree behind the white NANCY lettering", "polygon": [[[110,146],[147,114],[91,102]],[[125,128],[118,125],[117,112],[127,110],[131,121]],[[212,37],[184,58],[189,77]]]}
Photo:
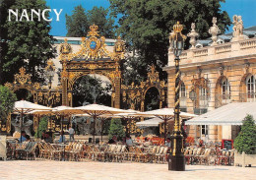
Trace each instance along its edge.
{"label": "large dark green tree behind the white NANCY lettering", "polygon": [[[18,9],[19,15],[24,9],[47,8],[44,0],[16,0],[11,6],[11,9]],[[30,11],[28,16],[31,19]],[[46,15],[48,17],[49,14]],[[52,47],[53,36],[49,35],[50,23],[42,21],[42,17],[40,20],[36,16],[29,22],[26,18],[22,22],[16,21],[15,16],[11,17],[11,21],[6,19],[4,28],[7,30],[8,49],[3,63],[5,81],[12,82],[13,75],[23,66],[32,74],[33,82],[44,80],[43,67],[49,58],[54,57],[55,51]]]}

